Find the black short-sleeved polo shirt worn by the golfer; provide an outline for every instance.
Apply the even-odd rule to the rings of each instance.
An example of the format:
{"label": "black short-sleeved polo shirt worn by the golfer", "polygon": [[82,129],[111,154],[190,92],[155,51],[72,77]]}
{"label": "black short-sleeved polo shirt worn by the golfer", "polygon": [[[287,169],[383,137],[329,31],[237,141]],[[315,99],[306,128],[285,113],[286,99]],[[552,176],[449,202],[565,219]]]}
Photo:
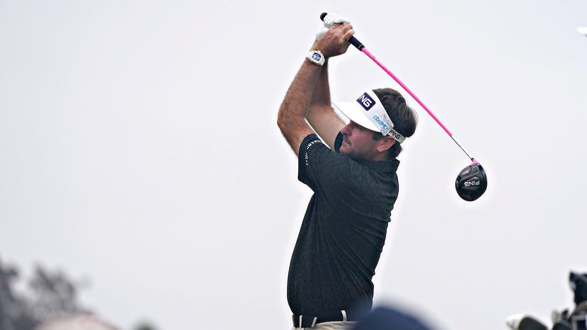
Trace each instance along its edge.
{"label": "black short-sleeved polo shirt worn by the golfer", "polygon": [[316,134],[299,150],[298,179],[314,194],[303,218],[288,274],[295,315],[373,303],[375,267],[397,198],[393,161],[357,162],[325,146]]}

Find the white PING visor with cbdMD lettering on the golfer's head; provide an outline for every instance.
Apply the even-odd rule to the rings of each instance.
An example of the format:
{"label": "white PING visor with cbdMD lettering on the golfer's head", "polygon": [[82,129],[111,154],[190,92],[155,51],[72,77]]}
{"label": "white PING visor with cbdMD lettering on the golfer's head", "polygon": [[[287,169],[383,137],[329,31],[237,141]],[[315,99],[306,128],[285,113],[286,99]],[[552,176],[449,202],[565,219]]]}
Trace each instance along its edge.
{"label": "white PING visor with cbdMD lettering on the golfer's head", "polygon": [[393,129],[392,120],[373,90],[367,90],[355,102],[333,102],[332,106],[366,129],[393,136],[399,143],[406,140],[405,136]]}

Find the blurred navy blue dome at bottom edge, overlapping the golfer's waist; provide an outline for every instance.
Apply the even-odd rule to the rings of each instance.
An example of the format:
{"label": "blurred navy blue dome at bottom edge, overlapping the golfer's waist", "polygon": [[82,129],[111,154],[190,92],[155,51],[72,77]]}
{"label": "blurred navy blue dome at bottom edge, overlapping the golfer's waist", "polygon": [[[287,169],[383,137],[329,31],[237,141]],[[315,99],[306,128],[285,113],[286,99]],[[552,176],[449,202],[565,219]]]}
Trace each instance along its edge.
{"label": "blurred navy blue dome at bottom edge, overlapping the golfer's waist", "polygon": [[414,316],[397,309],[377,307],[359,321],[353,330],[431,330]]}

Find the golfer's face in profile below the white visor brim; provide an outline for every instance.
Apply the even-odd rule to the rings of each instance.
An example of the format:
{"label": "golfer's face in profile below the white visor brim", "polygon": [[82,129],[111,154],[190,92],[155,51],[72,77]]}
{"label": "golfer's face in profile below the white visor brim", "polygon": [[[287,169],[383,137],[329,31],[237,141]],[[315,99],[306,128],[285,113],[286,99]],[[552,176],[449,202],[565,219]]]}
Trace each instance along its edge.
{"label": "golfer's face in profile below the white visor brim", "polygon": [[342,133],[342,145],[340,154],[349,156],[354,160],[377,160],[380,156],[377,151],[379,140],[373,140],[372,130],[366,129],[359,124],[351,121],[348,125],[340,130]]}

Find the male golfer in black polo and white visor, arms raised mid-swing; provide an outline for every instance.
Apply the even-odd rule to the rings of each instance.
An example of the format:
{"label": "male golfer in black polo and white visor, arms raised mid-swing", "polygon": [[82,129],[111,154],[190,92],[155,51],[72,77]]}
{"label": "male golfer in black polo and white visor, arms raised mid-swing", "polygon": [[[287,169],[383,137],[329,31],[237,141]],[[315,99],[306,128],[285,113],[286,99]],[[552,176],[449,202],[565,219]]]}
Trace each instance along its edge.
{"label": "male golfer in black polo and white visor, arms raised mid-swing", "polygon": [[349,124],[333,111],[328,60],[348,49],[349,23],[330,16],[278,113],[299,159],[298,179],[314,191],[289,265],[294,328],[351,329],[371,309],[372,277],[398,193],[396,157],[416,130],[413,109],[389,88],[335,102]]}

